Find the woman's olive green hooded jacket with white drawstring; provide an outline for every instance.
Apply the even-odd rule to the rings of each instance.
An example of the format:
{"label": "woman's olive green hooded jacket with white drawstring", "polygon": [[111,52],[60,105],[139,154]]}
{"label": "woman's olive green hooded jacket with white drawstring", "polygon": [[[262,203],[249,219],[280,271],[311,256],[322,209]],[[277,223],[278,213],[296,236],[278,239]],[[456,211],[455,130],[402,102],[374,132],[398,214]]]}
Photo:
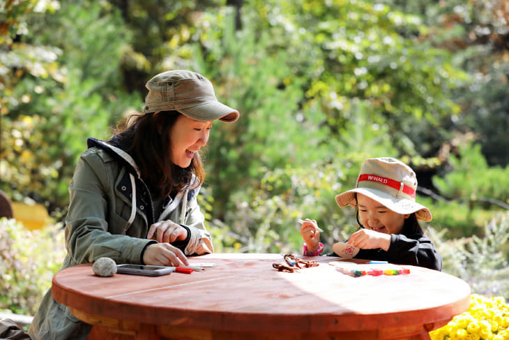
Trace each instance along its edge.
{"label": "woman's olive green hooded jacket with white drawstring", "polygon": [[[142,264],[144,248],[156,241],[146,239],[156,221],[171,220],[189,230],[185,255],[213,252],[211,235],[197,203],[198,189],[169,198],[158,219],[153,201],[139,177],[135,161],[123,150],[89,138],[89,149],[79,157],[69,186],[66,216],[67,256],[63,268],[109,257],[116,263]],[[68,307],[56,302],[51,289],[33,318],[33,340],[86,339],[91,326],[78,320]]]}

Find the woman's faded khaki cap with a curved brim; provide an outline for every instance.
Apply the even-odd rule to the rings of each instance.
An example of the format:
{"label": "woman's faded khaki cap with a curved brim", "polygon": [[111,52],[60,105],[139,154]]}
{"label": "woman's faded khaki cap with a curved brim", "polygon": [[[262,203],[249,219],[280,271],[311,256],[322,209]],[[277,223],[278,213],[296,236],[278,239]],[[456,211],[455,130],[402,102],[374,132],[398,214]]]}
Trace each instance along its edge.
{"label": "woman's faded khaki cap with a curved brim", "polygon": [[234,122],[237,110],[218,102],[212,83],[203,75],[187,70],[166,71],[146,82],[144,113],[176,110],[197,121],[219,119]]}

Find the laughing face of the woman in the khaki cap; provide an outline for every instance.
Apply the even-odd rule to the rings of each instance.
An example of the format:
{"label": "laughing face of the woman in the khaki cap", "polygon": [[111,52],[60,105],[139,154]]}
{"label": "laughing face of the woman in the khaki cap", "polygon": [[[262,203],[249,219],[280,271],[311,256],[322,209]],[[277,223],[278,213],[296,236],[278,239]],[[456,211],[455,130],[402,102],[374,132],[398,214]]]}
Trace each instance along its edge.
{"label": "laughing face of the woman in the khaki cap", "polygon": [[170,128],[172,162],[187,168],[195,153],[204,147],[211,133],[212,121],[197,121],[181,114]]}

